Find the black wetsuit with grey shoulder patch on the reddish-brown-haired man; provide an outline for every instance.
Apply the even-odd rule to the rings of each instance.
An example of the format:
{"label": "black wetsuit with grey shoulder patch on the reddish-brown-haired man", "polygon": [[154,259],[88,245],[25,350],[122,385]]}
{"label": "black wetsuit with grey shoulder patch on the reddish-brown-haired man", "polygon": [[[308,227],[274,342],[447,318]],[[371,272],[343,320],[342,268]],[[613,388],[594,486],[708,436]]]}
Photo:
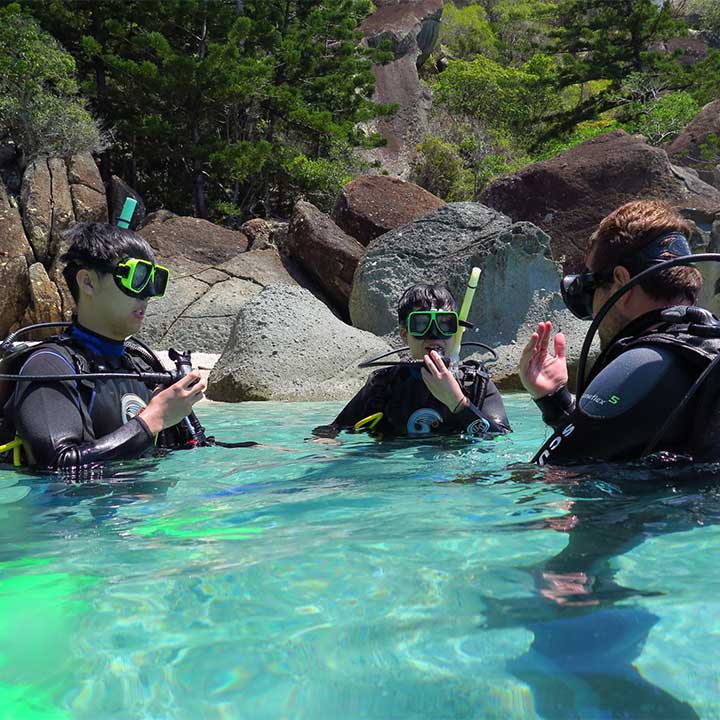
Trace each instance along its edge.
{"label": "black wetsuit with grey shoulder patch on the reddish-brown-haired man", "polygon": [[[682,322],[661,322],[661,311],[653,311],[621,332],[596,361],[579,402],[565,387],[536,401],[543,420],[555,432],[533,462],[568,464],[642,456],[720,352],[720,339],[711,337],[720,335],[720,327],[710,313],[684,307],[670,311],[676,311]],[[713,419],[716,404],[708,405],[712,397],[710,385],[698,392],[678,413],[658,449],[716,459],[720,428]]]}

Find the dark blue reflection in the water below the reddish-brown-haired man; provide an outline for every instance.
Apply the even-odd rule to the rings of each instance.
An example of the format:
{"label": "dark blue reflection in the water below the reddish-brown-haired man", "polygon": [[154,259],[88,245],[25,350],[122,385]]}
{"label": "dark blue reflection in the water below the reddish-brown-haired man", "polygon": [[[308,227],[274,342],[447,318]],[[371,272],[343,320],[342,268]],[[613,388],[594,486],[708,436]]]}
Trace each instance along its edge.
{"label": "dark blue reflection in the water below the reddish-brown-haired man", "polygon": [[[666,458],[667,460],[667,458]],[[638,463],[573,468],[516,467],[505,482],[554,483],[566,513],[505,525],[567,534],[554,557],[525,568],[533,598],[485,597],[489,627],[524,627],[529,650],[508,669],[533,691],[547,718],[698,718],[633,664],[660,619],[640,599],[670,594],[614,579],[613,560],[644,540],[720,520],[720,467]]]}

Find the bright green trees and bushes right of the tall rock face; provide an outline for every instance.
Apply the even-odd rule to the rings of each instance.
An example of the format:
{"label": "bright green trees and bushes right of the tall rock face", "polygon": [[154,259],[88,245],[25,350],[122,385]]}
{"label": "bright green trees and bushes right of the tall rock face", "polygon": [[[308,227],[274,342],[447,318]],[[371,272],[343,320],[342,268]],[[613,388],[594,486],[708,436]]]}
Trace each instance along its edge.
{"label": "bright green trees and bushes right of the tall rock face", "polygon": [[415,167],[444,198],[472,198],[501,173],[612,129],[667,143],[720,97],[720,50],[690,64],[663,45],[689,32],[720,44],[717,0],[462,5],[446,3],[426,66],[433,127]]}

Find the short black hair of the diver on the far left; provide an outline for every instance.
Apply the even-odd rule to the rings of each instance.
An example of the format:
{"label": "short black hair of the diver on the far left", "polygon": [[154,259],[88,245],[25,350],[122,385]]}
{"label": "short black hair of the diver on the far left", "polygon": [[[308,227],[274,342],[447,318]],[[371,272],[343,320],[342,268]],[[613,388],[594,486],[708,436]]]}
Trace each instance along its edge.
{"label": "short black hair of the diver on the far left", "polygon": [[108,265],[127,257],[155,262],[155,253],[144,237],[116,225],[78,223],[63,233],[63,238],[71,244],[60,261],[65,263],[63,277],[75,302],[80,297],[78,270],[103,272]]}

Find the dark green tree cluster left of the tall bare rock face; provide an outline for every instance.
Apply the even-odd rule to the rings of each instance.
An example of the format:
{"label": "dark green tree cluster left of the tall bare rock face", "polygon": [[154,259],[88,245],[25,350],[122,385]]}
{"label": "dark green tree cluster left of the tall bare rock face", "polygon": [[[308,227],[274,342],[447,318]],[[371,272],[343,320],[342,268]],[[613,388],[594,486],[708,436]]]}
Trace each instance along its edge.
{"label": "dark green tree cluster left of the tall bare rock face", "polygon": [[[367,0],[28,0],[112,124],[106,172],[151,206],[284,212],[377,112]],[[339,150],[338,148],[341,148]],[[309,172],[316,162],[315,171]],[[336,174],[336,173],[335,173]],[[296,182],[297,179],[297,182]]]}

